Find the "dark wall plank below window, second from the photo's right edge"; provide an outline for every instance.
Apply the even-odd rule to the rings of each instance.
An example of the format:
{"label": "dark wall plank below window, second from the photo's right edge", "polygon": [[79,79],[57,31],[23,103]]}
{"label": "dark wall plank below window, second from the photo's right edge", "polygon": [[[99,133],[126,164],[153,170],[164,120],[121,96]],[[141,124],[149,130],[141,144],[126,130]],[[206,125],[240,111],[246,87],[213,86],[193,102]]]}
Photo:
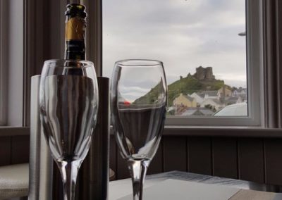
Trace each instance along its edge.
{"label": "dark wall plank below window, second from the photo's right edge", "polygon": [[264,182],[263,139],[239,139],[239,179]]}

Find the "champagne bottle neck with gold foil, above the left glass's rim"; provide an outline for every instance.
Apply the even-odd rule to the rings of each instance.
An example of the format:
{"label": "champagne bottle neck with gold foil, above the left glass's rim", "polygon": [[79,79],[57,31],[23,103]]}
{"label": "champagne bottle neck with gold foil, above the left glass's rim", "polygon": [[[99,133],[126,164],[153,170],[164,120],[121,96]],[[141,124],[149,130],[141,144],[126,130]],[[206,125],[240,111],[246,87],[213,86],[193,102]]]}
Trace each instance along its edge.
{"label": "champagne bottle neck with gold foil, above the left glass's rim", "polygon": [[66,6],[66,51],[65,59],[85,60],[85,6],[68,4]]}

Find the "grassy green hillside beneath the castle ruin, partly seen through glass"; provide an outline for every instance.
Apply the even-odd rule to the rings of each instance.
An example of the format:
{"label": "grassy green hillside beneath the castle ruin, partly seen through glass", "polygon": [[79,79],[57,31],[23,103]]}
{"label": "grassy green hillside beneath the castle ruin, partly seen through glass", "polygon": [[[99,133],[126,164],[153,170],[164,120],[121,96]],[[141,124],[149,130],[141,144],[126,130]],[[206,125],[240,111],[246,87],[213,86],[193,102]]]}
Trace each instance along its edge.
{"label": "grassy green hillside beneath the castle ruin, partly seen through glass", "polygon": [[[194,76],[188,75],[187,77],[181,77],[180,80],[171,83],[168,85],[168,106],[173,105],[173,99],[182,94],[192,94],[193,92],[207,91],[207,90],[218,90],[223,87],[223,80],[197,80]],[[133,102],[133,104],[137,104],[145,101],[153,101],[157,96],[157,90],[159,89],[159,85],[152,88],[150,92],[145,94],[145,96],[140,97]]]}

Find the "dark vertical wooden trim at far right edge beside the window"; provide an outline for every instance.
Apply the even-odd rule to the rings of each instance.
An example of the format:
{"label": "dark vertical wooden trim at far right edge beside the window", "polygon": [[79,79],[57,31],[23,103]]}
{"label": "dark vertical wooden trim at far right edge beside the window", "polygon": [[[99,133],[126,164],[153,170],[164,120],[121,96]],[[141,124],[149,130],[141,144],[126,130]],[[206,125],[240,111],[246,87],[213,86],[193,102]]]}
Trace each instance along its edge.
{"label": "dark vertical wooden trim at far right edge beside the window", "polygon": [[[281,127],[281,45],[279,0],[264,0],[264,108],[266,127]],[[281,7],[281,6],[280,6]],[[280,42],[280,44],[278,43]]]}

